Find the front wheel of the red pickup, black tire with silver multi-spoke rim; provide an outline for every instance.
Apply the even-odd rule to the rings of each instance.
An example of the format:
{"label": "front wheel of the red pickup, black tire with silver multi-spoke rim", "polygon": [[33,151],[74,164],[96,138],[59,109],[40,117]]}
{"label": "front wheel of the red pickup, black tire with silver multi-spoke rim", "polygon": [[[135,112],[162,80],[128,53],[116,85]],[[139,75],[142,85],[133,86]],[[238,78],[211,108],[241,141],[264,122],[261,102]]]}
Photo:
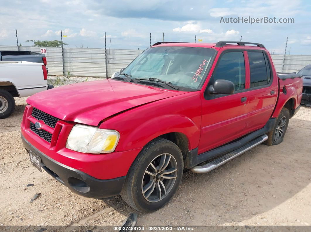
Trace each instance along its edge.
{"label": "front wheel of the red pickup, black tire with silver multi-spoke rim", "polygon": [[163,207],[176,192],[183,174],[183,155],[164,138],[149,142],[138,154],[126,176],[121,196],[141,212]]}

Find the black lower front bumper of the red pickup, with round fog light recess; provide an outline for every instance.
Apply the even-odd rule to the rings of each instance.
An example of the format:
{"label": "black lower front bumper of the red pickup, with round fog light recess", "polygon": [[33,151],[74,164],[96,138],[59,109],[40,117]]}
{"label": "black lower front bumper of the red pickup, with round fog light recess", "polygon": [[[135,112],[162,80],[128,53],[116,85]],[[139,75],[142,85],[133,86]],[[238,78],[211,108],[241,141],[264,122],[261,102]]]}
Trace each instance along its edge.
{"label": "black lower front bumper of the red pickup, with round fog light recess", "polygon": [[81,196],[103,199],[118,195],[123,187],[125,176],[100,180],[51,159],[34,146],[23,135],[22,142],[26,150],[32,151],[41,158],[41,167],[56,180],[67,186],[72,192]]}

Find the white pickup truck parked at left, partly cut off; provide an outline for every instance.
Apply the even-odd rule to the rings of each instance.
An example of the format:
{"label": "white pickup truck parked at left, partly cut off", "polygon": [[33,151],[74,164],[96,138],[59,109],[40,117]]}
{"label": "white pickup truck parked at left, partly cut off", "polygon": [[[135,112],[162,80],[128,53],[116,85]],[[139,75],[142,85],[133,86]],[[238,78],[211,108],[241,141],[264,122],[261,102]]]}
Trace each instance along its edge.
{"label": "white pickup truck parked at left, partly cut off", "polygon": [[0,119],[14,111],[14,97],[27,97],[52,88],[42,63],[0,61]]}

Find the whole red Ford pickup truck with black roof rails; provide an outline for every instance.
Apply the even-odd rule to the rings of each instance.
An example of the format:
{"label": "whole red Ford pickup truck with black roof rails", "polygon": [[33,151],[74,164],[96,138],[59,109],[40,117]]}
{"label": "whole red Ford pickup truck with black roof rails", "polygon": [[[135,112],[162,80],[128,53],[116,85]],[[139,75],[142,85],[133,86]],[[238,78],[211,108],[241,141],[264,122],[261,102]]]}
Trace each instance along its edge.
{"label": "whole red Ford pickup truck with black roof rails", "polygon": [[21,138],[31,163],[73,192],[121,194],[150,212],[185,169],[281,143],[301,97],[301,77],[278,77],[262,44],[158,42],[112,79],[28,98]]}

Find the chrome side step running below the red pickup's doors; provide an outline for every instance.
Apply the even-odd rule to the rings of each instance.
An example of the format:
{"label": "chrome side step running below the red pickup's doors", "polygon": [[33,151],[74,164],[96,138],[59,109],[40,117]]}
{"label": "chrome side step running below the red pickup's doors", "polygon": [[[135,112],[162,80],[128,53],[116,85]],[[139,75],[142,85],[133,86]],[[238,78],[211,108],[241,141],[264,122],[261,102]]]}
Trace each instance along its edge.
{"label": "chrome side step running below the red pickup's doors", "polygon": [[240,147],[234,151],[231,151],[231,152],[219,157],[216,160],[211,161],[208,164],[205,164],[203,166],[194,166],[190,170],[194,173],[208,173],[211,170],[216,169],[220,165],[225,164],[229,160],[232,160],[235,157],[241,155],[245,151],[248,151],[248,150],[252,149],[253,147],[257,146],[258,144],[266,141],[267,139],[268,139],[268,136],[266,134],[264,134],[258,138],[255,138],[254,140],[246,143],[244,146],[242,146],[242,147]]}

